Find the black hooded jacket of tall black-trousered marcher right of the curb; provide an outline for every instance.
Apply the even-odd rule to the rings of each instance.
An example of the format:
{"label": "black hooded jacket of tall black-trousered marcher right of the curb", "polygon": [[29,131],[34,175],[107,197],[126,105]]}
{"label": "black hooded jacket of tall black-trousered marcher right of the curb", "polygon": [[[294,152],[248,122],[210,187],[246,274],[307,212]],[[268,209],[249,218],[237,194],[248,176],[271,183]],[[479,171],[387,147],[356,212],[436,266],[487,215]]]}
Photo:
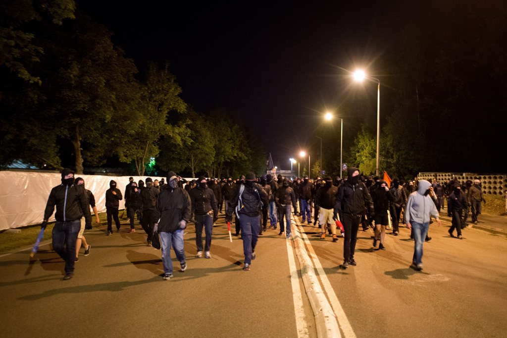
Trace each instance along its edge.
{"label": "black hooded jacket of tall black-trousered marcher right of the curb", "polygon": [[363,182],[352,184],[352,173],[358,170],[350,167],[348,170],[348,180],[338,188],[336,196],[335,213],[340,211],[344,214],[362,215],[365,208],[374,215],[373,200],[368,188]]}

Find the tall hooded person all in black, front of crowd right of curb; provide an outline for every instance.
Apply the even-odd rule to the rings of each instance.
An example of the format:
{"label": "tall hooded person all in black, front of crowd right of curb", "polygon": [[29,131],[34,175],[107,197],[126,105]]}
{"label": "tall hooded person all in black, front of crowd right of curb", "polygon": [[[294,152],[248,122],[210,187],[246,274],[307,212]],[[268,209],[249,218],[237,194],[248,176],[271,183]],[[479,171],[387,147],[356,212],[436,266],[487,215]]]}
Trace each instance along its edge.
{"label": "tall hooded person all in black, front of crowd right of curb", "polygon": [[341,221],[345,230],[342,268],[347,268],[349,264],[356,265],[354,252],[357,242],[357,230],[365,208],[370,210],[371,217],[375,217],[370,192],[363,182],[359,182],[359,170],[350,167],[347,181],[341,184],[338,189],[335,204],[335,214],[341,212]]}

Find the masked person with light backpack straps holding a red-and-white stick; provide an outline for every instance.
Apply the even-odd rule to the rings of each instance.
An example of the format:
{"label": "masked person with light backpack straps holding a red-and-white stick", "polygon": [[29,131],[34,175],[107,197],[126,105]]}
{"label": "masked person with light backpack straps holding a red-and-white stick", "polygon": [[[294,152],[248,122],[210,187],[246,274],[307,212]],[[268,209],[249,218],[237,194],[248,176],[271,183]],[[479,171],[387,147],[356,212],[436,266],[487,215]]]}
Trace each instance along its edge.
{"label": "masked person with light backpack straps holding a red-and-white stick", "polygon": [[[251,260],[256,258],[255,247],[259,237],[260,211],[263,204],[267,204],[268,195],[262,186],[255,183],[255,174],[249,173],[245,181],[238,185],[234,192],[231,205],[236,210],[241,226],[243,239],[243,253],[245,255],[244,271],[250,269]],[[228,210],[226,222],[232,220],[232,208]]]}

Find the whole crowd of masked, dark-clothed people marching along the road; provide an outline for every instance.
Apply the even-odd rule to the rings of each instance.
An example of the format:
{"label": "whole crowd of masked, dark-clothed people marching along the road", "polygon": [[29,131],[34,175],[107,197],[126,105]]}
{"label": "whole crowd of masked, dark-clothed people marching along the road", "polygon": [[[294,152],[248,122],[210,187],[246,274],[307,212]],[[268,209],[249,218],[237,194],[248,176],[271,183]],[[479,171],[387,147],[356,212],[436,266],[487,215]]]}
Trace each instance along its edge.
{"label": "whole crowd of masked, dark-clothed people marching along the road", "polygon": [[[355,246],[359,226],[363,230],[374,228],[373,247],[386,250],[385,234],[392,224],[392,234],[399,234],[400,222],[411,229],[414,239],[414,255],[411,267],[422,270],[423,243],[429,241],[428,228],[430,218],[440,224],[439,212],[447,201],[448,216],[452,217],[449,234],[462,239],[461,230],[466,226],[468,207],[472,210],[472,221],[477,224],[481,213],[481,202],[485,202],[481,182],[475,180],[472,185],[467,181],[463,186],[458,181],[441,185],[437,180],[415,180],[406,183],[394,178],[392,185],[379,177],[365,177],[359,170],[350,167],[345,180],[340,177],[308,176],[288,178],[268,174],[257,178],[248,173],[233,180],[232,177],[186,181],[174,172],[167,175],[167,183],[162,179],[135,182],[129,178],[129,184],[122,192],[114,180],[105,192],[107,213],[107,235],[113,235],[112,222],[120,231],[119,201],[125,198],[125,208],[130,219],[130,232],[135,232],[134,221],[137,218],[147,234],[147,245],[160,248],[164,267],[164,280],[173,277],[171,247],[179,261],[179,271],[187,269],[184,233],[187,224],[195,224],[195,257],[211,258],[211,238],[213,224],[224,214],[227,223],[234,217],[235,235],[243,241],[244,265],[248,271],[252,260],[256,259],[256,246],[259,236],[268,229],[277,229],[278,235],[292,238],[291,218],[301,216],[302,223],[307,222],[320,228],[320,239],[327,234],[333,242],[344,238],[343,263],[339,268],[346,269],[356,265]],[[65,261],[64,280],[73,278],[75,262],[81,247],[84,255],[90,253],[91,245],[83,235],[85,229],[91,229],[92,208],[96,223],[99,223],[95,197],[85,189],[82,178],[74,178],[74,172],[64,169],[61,172],[61,184],[54,187],[48,198],[42,228],[46,228],[48,219],[56,206],[56,223],[52,231],[53,249]],[[145,185],[146,183],[146,185]],[[224,208],[225,206],[225,208]],[[318,224],[317,224],[318,223]],[[340,232],[337,234],[337,226]],[[203,247],[202,231],[205,242]],[[377,248],[378,246],[378,248]]]}

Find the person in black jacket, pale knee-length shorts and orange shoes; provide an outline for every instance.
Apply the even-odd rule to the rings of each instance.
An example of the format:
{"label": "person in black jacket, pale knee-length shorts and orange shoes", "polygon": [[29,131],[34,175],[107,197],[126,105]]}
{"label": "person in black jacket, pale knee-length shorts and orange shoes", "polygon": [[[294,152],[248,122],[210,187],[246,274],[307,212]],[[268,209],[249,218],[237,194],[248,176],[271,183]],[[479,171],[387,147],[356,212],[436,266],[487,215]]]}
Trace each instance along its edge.
{"label": "person in black jacket, pale knee-length shorts and orange shoes", "polygon": [[324,185],[315,194],[315,204],[320,208],[318,221],[322,231],[320,239],[325,239],[325,230],[327,227],[331,227],[333,242],[336,242],[338,241],[338,237],[336,236],[336,223],[334,222],[333,215],[338,188],[333,185],[333,179],[329,176],[324,179],[324,182]]}

